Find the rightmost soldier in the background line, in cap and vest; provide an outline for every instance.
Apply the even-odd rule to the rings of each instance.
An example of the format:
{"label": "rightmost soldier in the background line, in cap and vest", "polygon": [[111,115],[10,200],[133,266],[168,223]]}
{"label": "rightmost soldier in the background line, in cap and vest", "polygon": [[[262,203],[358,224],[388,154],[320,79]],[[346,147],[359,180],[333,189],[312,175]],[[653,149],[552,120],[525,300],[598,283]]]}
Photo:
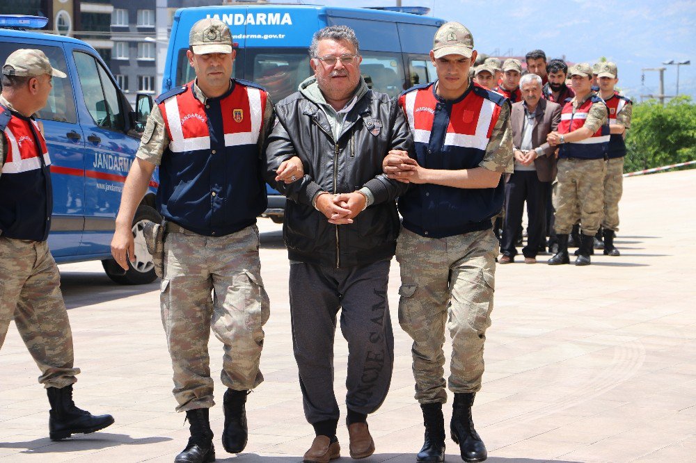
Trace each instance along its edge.
{"label": "rightmost soldier in the background line, in cap and vest", "polygon": [[609,108],[609,146],[607,172],[604,176],[604,218],[602,236],[604,255],[619,256],[614,245],[619,231],[619,200],[624,186],[624,157],[626,131],[631,128],[631,100],[618,95],[614,88],[619,81],[615,63],[599,63],[599,96]]}

